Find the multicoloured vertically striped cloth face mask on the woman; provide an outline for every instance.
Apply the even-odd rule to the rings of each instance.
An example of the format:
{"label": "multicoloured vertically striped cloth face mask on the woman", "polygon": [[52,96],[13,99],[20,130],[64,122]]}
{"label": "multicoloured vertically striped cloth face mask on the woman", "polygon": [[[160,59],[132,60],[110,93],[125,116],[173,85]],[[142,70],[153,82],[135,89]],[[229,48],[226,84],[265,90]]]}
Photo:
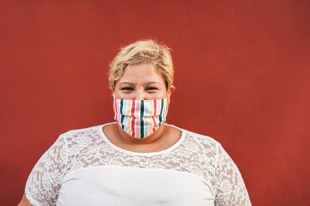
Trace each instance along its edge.
{"label": "multicoloured vertically striped cloth face mask on the woman", "polygon": [[145,138],[166,121],[167,96],[164,99],[115,99],[114,120],[129,135]]}

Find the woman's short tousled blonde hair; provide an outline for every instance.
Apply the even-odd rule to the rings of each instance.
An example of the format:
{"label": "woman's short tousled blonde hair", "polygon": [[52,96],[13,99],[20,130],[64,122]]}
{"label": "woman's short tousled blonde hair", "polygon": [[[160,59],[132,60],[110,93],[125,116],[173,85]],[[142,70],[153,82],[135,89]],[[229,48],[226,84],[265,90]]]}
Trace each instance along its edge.
{"label": "woman's short tousled blonde hair", "polygon": [[169,49],[166,45],[154,40],[136,41],[121,47],[109,65],[108,80],[110,87],[114,91],[116,81],[123,76],[127,66],[147,63],[158,69],[165,79],[166,89],[168,89],[172,85],[174,73]]}

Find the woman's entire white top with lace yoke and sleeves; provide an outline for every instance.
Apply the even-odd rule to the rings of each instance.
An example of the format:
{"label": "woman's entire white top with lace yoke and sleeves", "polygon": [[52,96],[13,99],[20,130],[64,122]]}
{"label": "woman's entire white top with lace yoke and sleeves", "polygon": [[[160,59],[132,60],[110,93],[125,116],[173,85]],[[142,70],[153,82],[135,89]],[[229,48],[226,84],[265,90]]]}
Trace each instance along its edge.
{"label": "woman's entire white top with lace yoke and sleeves", "polygon": [[178,142],[137,153],[113,145],[105,125],[59,135],[28,177],[32,205],[251,206],[238,167],[213,138],[166,124],[182,131]]}

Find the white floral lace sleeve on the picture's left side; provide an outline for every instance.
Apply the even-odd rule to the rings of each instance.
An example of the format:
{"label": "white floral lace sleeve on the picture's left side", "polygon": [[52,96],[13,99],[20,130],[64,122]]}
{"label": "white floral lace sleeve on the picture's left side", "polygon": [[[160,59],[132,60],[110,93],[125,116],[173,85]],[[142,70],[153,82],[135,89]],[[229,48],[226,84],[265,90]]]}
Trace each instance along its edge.
{"label": "white floral lace sleeve on the picture's left side", "polygon": [[60,134],[33,167],[25,186],[26,198],[34,206],[55,206],[58,190],[68,167],[66,133]]}

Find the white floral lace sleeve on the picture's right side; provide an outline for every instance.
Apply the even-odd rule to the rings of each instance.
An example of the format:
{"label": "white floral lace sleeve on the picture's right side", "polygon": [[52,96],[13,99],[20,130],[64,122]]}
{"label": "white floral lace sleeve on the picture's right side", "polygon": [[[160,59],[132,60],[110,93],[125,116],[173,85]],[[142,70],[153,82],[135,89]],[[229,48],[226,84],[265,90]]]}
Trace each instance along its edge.
{"label": "white floral lace sleeve on the picture's right side", "polygon": [[237,165],[219,143],[215,158],[215,206],[252,206]]}

